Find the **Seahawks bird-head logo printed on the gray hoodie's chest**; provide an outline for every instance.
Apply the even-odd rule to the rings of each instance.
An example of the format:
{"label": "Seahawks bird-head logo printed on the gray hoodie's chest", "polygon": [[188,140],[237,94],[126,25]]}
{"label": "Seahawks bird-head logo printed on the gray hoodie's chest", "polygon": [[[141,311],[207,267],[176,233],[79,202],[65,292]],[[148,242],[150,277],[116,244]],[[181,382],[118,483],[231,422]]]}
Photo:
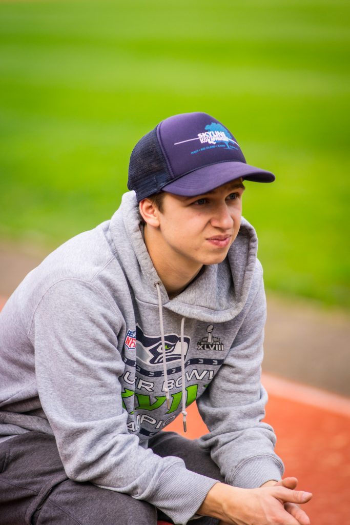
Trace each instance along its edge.
{"label": "Seahawks bird-head logo printed on the gray hoodie's chest", "polygon": [[[181,337],[176,333],[164,335],[165,339],[165,358],[167,363],[179,361],[181,359]],[[189,337],[184,337],[185,358],[189,348]],[[162,338],[151,337],[143,333],[142,329],[136,324],[136,354],[146,364],[162,364]]]}

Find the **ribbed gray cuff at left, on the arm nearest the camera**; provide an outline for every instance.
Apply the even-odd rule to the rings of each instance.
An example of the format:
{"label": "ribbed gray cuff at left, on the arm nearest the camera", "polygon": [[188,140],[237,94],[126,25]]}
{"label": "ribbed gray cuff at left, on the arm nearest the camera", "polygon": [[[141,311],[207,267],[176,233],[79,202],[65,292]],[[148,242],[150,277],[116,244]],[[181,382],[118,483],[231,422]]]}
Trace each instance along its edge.
{"label": "ribbed gray cuff at left, on the arm nearest the camera", "polygon": [[147,501],[161,509],[174,523],[186,525],[216,483],[217,479],[185,468],[179,472],[178,464],[173,465],[161,476],[152,498],[147,498]]}

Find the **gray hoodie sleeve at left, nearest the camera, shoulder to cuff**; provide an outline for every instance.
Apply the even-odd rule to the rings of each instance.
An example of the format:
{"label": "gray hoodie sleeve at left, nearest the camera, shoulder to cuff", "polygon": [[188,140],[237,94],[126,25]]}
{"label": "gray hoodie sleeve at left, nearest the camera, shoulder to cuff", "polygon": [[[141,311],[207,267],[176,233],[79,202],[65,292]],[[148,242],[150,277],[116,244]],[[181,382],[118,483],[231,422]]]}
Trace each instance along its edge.
{"label": "gray hoodie sleeve at left, nearest the camera, shoulder to cuff", "polygon": [[119,382],[122,323],[115,303],[91,283],[64,279],[45,293],[29,332],[41,405],[70,479],[146,500],[185,524],[217,480],[129,434]]}

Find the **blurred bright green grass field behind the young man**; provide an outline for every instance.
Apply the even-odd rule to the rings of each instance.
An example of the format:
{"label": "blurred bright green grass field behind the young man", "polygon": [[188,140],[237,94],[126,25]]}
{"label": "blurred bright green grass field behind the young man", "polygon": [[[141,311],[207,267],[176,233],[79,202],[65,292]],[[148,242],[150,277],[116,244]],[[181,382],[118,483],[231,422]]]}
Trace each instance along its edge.
{"label": "blurred bright green grass field behind the young man", "polygon": [[135,142],[213,114],[247,183],[267,288],[350,306],[345,1],[0,3],[0,239],[51,248],[109,218]]}

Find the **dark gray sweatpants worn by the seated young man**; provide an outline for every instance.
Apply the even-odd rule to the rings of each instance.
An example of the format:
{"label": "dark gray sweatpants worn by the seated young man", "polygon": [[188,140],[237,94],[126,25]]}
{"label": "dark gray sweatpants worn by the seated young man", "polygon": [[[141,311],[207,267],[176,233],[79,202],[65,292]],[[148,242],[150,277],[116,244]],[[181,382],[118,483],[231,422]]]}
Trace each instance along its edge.
{"label": "dark gray sweatpants worn by the seated young man", "polygon": [[[160,432],[150,440],[159,456],[181,457],[189,470],[222,481],[210,455],[196,440]],[[67,478],[55,438],[29,432],[0,445],[1,525],[156,525],[172,523],[146,501]],[[194,525],[216,525],[209,517]]]}

